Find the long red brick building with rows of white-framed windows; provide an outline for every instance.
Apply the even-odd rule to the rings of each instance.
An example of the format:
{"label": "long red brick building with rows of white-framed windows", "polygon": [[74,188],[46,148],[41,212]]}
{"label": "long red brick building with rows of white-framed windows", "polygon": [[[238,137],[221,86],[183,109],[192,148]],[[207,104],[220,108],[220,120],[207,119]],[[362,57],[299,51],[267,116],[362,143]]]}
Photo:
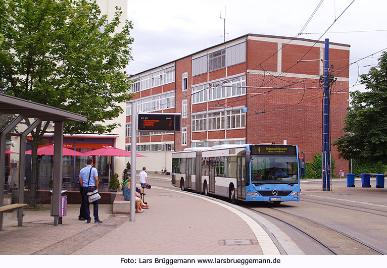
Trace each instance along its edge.
{"label": "long red brick building with rows of white-framed windows", "polygon": [[[337,78],[331,141],[342,135],[348,108],[349,48],[329,44],[330,72]],[[137,111],[182,114],[181,132],[140,133],[137,149],[148,159],[138,158],[138,167],[171,170],[171,152],[186,147],[283,140],[298,145],[310,162],[322,147],[323,56],[323,41],[247,34],[133,75]],[[130,146],[130,104],[126,122]],[[335,147],[332,158],[335,174],[348,172]]]}

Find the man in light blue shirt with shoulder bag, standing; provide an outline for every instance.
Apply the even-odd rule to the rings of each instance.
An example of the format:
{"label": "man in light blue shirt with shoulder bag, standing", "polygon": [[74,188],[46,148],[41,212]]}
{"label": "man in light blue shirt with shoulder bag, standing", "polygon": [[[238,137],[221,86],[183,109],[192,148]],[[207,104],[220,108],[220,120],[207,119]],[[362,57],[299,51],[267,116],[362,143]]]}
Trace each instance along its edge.
{"label": "man in light blue shirt with shoulder bag, standing", "polygon": [[[87,193],[92,192],[95,189],[98,189],[98,171],[96,168],[93,168],[93,159],[87,158],[86,160],[87,166],[80,170],[79,172],[79,183],[83,187],[83,202],[85,205],[85,213],[87,216],[87,222],[90,223],[90,204],[87,198]],[[94,223],[102,223],[98,218],[98,200],[92,202],[93,204],[93,215],[94,215]]]}

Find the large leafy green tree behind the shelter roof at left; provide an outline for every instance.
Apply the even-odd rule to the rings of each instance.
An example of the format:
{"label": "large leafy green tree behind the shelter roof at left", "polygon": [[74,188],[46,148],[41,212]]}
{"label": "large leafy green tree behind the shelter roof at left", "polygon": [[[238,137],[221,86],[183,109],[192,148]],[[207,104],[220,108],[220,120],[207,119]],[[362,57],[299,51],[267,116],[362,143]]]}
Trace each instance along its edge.
{"label": "large leafy green tree behind the shelter roof at left", "polygon": [[[116,8],[107,23],[95,1],[1,1],[0,92],[87,116],[84,123],[65,122],[65,133],[111,132],[119,123],[95,122],[118,117],[119,104],[131,98],[123,70],[131,59],[132,24],[117,31],[121,13]],[[32,180],[49,123],[32,133]]]}

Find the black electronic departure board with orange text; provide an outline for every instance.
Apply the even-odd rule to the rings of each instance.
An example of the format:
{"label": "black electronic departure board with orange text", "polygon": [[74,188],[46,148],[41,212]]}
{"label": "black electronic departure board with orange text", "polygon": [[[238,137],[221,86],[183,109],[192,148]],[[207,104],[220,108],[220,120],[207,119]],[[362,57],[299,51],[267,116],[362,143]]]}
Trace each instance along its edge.
{"label": "black electronic departure board with orange text", "polygon": [[181,114],[138,114],[139,131],[180,131]]}

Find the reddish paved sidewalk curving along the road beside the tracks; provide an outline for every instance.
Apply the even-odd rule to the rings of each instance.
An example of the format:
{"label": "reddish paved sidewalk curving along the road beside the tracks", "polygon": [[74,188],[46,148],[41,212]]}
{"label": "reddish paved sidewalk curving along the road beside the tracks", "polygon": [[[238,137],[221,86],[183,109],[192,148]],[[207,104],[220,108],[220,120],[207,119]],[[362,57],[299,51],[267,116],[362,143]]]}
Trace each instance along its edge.
{"label": "reddish paved sidewalk curving along the road beside the tracks", "polygon": [[4,213],[0,254],[279,254],[256,222],[227,205],[178,188],[152,187],[146,201],[149,209],[136,213],[134,222],[112,215],[112,205],[99,206],[102,224],[78,221],[76,204],[68,205],[59,226],[49,207],[25,210],[23,227],[17,227],[16,210]]}

